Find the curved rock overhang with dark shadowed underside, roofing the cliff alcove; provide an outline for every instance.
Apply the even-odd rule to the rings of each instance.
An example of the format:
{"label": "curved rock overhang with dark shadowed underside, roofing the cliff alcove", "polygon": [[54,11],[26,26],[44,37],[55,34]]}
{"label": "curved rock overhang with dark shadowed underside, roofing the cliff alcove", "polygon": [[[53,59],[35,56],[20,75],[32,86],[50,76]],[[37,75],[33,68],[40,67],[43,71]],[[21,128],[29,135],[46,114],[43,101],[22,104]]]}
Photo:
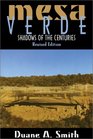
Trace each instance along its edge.
{"label": "curved rock overhang with dark shadowed underside, roofing the cliff alcove", "polygon": [[79,103],[71,100],[71,99],[62,99],[62,98],[55,98],[55,97],[33,97],[29,98],[28,100],[17,100],[17,101],[12,101],[11,103],[7,103],[5,106],[14,106],[14,105],[42,105],[42,106],[71,106],[71,107],[77,107],[77,105],[80,105]]}

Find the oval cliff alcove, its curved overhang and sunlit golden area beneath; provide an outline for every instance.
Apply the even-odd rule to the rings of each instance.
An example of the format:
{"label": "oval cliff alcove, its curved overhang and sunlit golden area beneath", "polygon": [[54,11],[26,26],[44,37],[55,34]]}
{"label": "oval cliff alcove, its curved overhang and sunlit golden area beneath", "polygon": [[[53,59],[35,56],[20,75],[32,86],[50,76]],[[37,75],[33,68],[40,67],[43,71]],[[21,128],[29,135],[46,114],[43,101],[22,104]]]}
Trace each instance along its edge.
{"label": "oval cliff alcove, its curved overhang and sunlit golden area beneath", "polygon": [[[77,114],[74,101],[62,98],[33,97],[30,100],[13,101],[6,104],[11,114],[24,120],[60,120]],[[23,116],[24,115],[24,116]]]}

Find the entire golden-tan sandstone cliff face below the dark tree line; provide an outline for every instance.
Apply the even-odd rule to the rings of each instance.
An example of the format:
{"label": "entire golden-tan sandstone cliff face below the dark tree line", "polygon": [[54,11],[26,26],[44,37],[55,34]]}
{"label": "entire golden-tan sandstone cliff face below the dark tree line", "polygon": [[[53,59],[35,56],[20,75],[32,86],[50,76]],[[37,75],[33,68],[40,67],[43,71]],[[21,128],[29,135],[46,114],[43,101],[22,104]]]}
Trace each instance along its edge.
{"label": "entire golden-tan sandstone cliff face below the dark tree line", "polygon": [[11,116],[21,118],[23,121],[60,121],[73,116],[81,118],[85,109],[88,109],[85,108],[85,104],[89,106],[92,99],[92,86],[89,85],[88,92],[82,92],[83,87],[83,85],[65,88],[5,86],[0,90],[0,98]]}

